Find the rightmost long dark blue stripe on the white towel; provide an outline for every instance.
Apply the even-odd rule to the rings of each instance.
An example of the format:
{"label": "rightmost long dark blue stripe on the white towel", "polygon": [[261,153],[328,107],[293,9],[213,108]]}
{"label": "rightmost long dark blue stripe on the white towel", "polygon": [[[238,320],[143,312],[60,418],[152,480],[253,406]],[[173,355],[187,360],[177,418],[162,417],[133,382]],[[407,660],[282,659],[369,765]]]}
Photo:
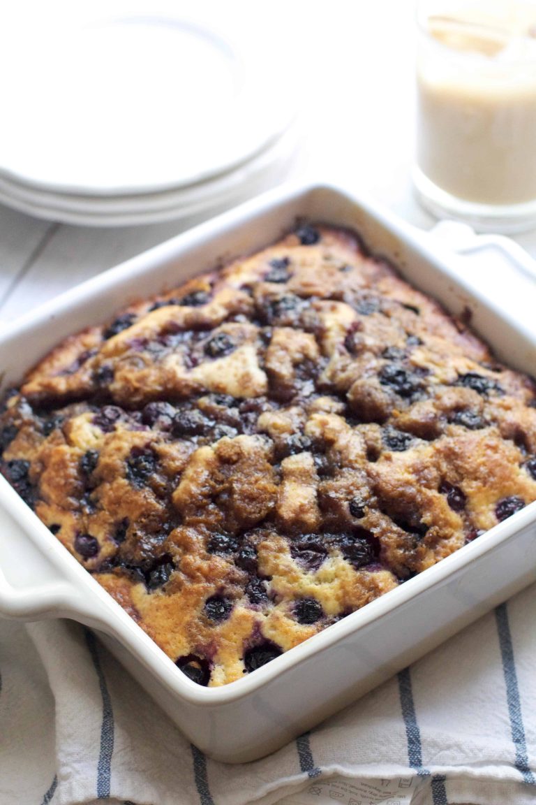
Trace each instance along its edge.
{"label": "rightmost long dark blue stripe on the white towel", "polygon": [[513,658],[512,635],[508,622],[508,610],[505,604],[501,604],[495,610],[497,620],[497,632],[499,635],[499,646],[501,647],[502,670],[505,674],[506,700],[508,702],[508,712],[510,718],[510,729],[512,731],[512,741],[516,750],[516,769],[521,772],[524,782],[530,786],[536,785],[536,779],[530,770],[529,758],[526,749],[525,728],[523,726],[523,716],[521,711],[521,700],[519,698],[518,674],[516,672],[515,659]]}

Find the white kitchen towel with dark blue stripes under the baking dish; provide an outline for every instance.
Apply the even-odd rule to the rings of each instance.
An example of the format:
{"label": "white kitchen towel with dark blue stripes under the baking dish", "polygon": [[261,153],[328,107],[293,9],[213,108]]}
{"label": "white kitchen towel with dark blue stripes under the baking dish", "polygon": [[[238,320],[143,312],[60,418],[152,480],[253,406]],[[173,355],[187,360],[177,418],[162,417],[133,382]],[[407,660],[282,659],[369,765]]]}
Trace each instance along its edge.
{"label": "white kitchen towel with dark blue stripes under the baking dish", "polygon": [[0,805],[534,805],[535,623],[536,585],[309,735],[227,766],[89,630],[3,621]]}

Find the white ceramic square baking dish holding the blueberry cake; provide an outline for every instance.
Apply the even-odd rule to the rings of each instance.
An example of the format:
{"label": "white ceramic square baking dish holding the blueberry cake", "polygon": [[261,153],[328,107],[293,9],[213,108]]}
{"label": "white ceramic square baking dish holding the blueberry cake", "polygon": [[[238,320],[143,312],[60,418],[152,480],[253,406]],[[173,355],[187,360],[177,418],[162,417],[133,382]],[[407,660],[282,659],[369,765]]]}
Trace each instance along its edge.
{"label": "white ceramic square baking dish holding the blueberry cake", "polygon": [[[376,254],[474,327],[497,356],[526,372],[536,341],[512,315],[456,279],[431,237],[368,200],[325,184],[280,188],[97,276],[0,333],[3,387],[64,336],[106,320],[129,300],[172,287],[275,241],[297,220],[355,229]],[[440,564],[219,688],[199,687],[134,623],[0,478],[0,614],[69,617],[103,642],[212,758],[260,758],[362,696],[536,577],[536,504]]]}

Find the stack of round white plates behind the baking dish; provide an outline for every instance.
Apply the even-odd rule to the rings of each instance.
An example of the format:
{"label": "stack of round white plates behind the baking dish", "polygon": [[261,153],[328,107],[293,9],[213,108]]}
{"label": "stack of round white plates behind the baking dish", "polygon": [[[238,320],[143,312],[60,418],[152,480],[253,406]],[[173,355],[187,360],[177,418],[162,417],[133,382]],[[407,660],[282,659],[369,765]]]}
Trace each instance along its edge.
{"label": "stack of round white plates behind the baking dish", "polygon": [[143,224],[211,213],[284,179],[292,104],[254,43],[125,14],[67,17],[25,46],[16,75],[14,53],[0,55],[14,76],[0,90],[0,203],[51,221]]}

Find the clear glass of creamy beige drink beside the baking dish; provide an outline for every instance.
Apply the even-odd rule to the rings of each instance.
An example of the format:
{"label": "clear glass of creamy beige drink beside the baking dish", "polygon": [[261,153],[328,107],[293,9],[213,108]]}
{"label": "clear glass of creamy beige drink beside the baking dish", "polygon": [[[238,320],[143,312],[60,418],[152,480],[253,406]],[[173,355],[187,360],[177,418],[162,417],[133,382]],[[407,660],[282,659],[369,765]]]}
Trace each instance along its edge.
{"label": "clear glass of creamy beige drink beside the baking dish", "polygon": [[536,224],[536,3],[422,3],[419,26],[424,203],[504,231]]}

